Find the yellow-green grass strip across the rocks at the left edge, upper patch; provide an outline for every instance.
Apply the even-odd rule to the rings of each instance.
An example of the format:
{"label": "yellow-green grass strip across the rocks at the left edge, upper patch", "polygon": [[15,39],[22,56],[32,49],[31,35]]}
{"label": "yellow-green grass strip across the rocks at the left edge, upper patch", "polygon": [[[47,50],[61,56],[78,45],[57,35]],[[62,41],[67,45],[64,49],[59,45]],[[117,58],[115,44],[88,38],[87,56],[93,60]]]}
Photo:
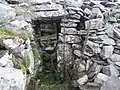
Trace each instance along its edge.
{"label": "yellow-green grass strip across the rocks at the left edge, upper patch", "polygon": [[9,37],[21,37],[23,39],[28,38],[28,34],[25,31],[16,31],[16,30],[10,30],[7,28],[0,28],[0,38],[9,38]]}

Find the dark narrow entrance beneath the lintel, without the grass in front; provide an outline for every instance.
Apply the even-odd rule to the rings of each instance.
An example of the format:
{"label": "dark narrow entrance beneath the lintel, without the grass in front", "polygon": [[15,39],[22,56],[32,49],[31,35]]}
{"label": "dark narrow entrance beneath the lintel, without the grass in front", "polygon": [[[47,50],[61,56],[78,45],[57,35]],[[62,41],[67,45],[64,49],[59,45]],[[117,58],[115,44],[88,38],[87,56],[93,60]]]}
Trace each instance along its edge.
{"label": "dark narrow entrance beneath the lintel, without the grass in front", "polygon": [[51,81],[49,79],[56,79],[54,75],[57,71],[57,43],[58,34],[61,30],[60,20],[36,20],[33,22],[35,37],[41,49],[43,66],[41,74],[46,75],[44,80],[48,80],[49,82]]}

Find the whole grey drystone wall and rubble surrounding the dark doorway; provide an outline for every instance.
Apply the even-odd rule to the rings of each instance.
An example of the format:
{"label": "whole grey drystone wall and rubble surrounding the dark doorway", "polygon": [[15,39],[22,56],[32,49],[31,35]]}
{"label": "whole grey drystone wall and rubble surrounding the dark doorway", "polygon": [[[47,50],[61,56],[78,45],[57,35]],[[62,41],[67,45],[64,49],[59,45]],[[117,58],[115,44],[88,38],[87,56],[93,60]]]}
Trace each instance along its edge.
{"label": "whole grey drystone wall and rubble surrounding the dark doorway", "polygon": [[[78,71],[78,79],[73,83],[75,86],[82,88],[83,85],[90,85],[100,86],[101,90],[119,90],[119,1],[6,1],[0,0],[1,90],[24,90],[26,73],[34,73],[36,64],[31,41],[33,47],[36,45],[32,38],[31,18],[61,21],[57,47],[58,66],[62,69],[65,62],[66,67]],[[40,63],[40,60],[36,63]]]}

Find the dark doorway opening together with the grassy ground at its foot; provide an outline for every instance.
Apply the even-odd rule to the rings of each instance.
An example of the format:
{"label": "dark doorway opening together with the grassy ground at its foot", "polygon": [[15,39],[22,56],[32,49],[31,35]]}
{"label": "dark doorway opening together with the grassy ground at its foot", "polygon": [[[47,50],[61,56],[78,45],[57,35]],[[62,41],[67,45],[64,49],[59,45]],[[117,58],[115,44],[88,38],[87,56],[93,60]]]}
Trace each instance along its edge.
{"label": "dark doorway opening together with the grassy ground at its foot", "polygon": [[[35,81],[39,80],[39,89],[31,90],[79,90],[64,83],[57,71],[57,44],[60,33],[60,20],[33,21],[35,38],[40,47],[42,72],[37,72]],[[33,82],[34,83],[34,82]]]}

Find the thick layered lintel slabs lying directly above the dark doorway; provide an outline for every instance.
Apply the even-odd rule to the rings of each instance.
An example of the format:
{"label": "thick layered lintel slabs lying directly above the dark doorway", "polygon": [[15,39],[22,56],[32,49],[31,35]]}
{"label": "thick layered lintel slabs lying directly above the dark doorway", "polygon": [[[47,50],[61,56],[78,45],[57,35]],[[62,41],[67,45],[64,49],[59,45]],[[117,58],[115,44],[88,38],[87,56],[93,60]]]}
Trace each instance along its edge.
{"label": "thick layered lintel slabs lying directly above the dark doorway", "polygon": [[[51,2],[51,0],[33,0],[32,4],[32,19],[41,20],[41,19],[59,19],[65,14],[63,6]],[[66,13],[67,15],[67,13]]]}

